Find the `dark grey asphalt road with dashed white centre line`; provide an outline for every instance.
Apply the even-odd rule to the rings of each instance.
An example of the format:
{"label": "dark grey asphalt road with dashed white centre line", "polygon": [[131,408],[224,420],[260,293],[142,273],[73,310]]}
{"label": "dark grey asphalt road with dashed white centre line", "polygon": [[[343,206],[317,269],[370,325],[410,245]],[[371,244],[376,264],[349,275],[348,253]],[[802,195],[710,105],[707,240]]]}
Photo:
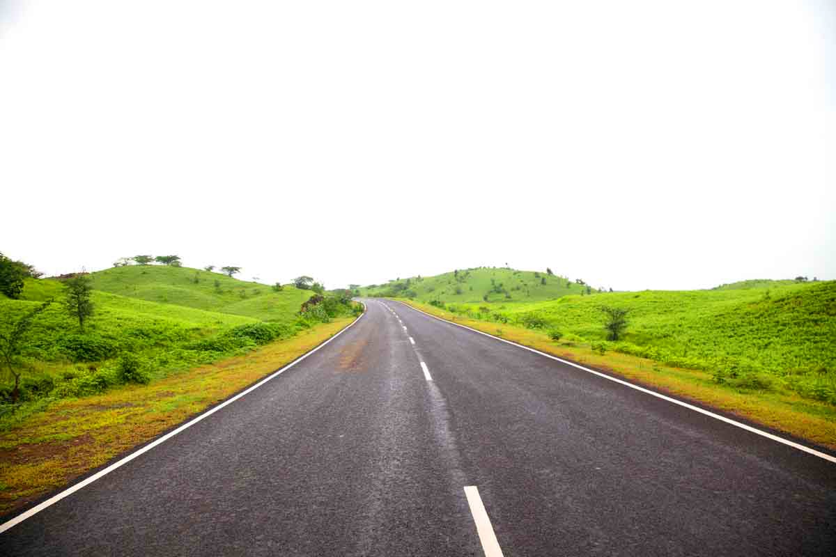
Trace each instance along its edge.
{"label": "dark grey asphalt road with dashed white centre line", "polygon": [[0,554],[836,554],[836,464],[366,304],[303,362],[0,534]]}

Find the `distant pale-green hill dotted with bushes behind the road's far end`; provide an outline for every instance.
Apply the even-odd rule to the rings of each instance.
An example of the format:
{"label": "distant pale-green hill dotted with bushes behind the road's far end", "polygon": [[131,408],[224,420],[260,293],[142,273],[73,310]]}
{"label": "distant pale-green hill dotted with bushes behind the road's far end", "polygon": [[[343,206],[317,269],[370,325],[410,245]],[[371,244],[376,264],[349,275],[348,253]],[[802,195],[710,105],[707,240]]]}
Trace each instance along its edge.
{"label": "distant pale-green hill dotted with bushes behind the road's far end", "polygon": [[[544,282],[544,284],[543,284]],[[385,285],[366,286],[362,296],[405,296],[418,301],[478,303],[487,301],[545,301],[580,294],[587,286],[545,271],[477,267],[437,276],[415,276]],[[596,291],[594,288],[592,291]]]}

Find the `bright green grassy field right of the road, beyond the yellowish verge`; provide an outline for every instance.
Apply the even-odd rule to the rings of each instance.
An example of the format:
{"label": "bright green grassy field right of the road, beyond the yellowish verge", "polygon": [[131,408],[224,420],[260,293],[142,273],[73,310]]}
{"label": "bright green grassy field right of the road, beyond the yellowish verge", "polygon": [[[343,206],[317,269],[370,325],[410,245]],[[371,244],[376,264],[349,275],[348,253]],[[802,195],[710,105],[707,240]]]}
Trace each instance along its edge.
{"label": "bright green grassy field right of the road, beyond the yellowish verge", "polygon": [[[629,311],[621,341],[606,341],[601,306]],[[564,342],[711,372],[716,382],[742,389],[788,389],[836,404],[836,281],[747,281],[709,291],[601,292],[444,308],[498,327],[559,331]]]}

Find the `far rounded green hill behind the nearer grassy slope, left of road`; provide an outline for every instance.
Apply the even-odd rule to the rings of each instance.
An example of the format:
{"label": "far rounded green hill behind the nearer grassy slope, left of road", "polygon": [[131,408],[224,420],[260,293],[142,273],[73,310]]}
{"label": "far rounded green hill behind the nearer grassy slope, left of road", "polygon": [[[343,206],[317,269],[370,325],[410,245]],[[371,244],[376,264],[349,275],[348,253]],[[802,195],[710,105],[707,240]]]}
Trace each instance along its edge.
{"label": "far rounded green hill behind the nearer grassy slope, left of road", "polygon": [[95,290],[266,322],[292,321],[303,301],[314,294],[295,286],[284,286],[277,292],[257,282],[189,267],[125,266],[90,276]]}

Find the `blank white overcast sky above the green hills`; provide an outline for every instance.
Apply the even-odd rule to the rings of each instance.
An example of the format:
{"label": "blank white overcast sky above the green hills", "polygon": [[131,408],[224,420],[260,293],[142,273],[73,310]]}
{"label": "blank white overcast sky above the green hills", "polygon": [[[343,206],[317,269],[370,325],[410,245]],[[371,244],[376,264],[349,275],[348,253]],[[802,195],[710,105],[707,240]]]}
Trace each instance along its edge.
{"label": "blank white overcast sky above the green hills", "polygon": [[0,251],[836,279],[836,3],[0,0]]}

